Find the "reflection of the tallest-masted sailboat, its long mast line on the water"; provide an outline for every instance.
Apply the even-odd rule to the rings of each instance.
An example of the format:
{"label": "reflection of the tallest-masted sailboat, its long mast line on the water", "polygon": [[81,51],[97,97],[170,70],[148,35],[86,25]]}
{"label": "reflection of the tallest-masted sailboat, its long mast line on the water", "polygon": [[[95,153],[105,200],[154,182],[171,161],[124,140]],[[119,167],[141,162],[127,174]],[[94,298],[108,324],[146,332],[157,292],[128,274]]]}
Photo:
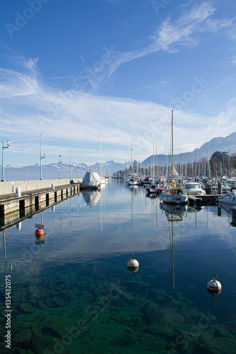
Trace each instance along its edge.
{"label": "reflection of the tallest-masted sailboat, its long mast line on the water", "polygon": [[187,212],[186,205],[167,205],[159,204],[160,209],[164,210],[167,220],[172,224],[172,235],[171,235],[171,244],[172,244],[172,288],[174,290],[174,222],[180,222],[183,220],[184,213]]}

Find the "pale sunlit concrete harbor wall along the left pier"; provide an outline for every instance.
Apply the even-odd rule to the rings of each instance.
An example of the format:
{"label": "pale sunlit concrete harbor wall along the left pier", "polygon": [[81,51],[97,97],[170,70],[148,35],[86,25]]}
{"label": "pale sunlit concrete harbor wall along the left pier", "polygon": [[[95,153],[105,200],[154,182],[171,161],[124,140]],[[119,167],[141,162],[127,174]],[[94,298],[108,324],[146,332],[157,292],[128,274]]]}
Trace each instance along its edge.
{"label": "pale sunlit concrete harbor wall along the left pier", "polygon": [[60,185],[68,185],[71,183],[82,182],[82,178],[69,178],[62,179],[45,179],[45,180],[35,180],[35,181],[4,181],[0,182],[0,195],[16,193],[16,188],[21,188],[21,193],[27,190],[37,190],[43,188],[50,188],[55,185],[55,188]]}

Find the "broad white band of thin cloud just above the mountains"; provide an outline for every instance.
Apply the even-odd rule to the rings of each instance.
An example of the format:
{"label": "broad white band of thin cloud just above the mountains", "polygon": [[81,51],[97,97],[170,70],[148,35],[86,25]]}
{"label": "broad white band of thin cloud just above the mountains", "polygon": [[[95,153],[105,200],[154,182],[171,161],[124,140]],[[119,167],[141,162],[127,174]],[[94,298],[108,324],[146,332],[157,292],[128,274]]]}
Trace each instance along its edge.
{"label": "broad white band of thin cloud just above the mountains", "polygon": [[[8,88],[6,91],[1,88],[1,134],[3,137],[9,136],[13,142],[11,152],[38,154],[38,137],[41,132],[47,141],[45,147],[52,161],[59,150],[66,154],[69,149],[73,150],[74,157],[86,156],[90,159],[96,156],[99,133],[102,132],[103,143],[109,146],[106,155],[108,159],[120,159],[122,156],[123,160],[128,161],[130,139],[133,139],[133,153],[137,159],[152,154],[153,142],[158,145],[159,153],[165,153],[164,147],[169,146],[169,107],[128,98],[77,92],[69,102],[64,99],[64,105],[60,106],[57,115],[49,116],[48,107],[52,103],[63,103],[62,98],[67,98],[68,92],[42,84],[37,62],[28,62],[28,73],[25,65],[22,72],[0,70],[0,73],[4,72],[4,85]],[[217,117],[176,111],[176,147],[179,145],[182,152],[193,150],[218,136],[219,132],[227,135],[236,131],[234,103],[231,102],[227,110]],[[189,122],[196,122],[194,129]],[[201,137],[198,146],[196,136]]]}

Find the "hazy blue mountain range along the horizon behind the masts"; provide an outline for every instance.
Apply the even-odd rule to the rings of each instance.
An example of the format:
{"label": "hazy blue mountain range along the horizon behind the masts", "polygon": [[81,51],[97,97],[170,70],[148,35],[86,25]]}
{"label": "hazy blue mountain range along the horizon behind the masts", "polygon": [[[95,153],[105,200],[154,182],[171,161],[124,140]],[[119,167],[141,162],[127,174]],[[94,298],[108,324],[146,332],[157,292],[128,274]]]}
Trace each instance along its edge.
{"label": "hazy blue mountain range along the horizon behind the masts", "polygon": [[[190,163],[195,161],[195,156],[196,156],[196,161],[198,159],[207,157],[207,151],[208,151],[208,158],[210,159],[210,156],[213,154],[215,151],[220,151],[220,152],[228,152],[228,149],[230,147],[230,154],[236,153],[236,132],[233,132],[232,134],[228,135],[227,137],[215,137],[210,140],[210,142],[206,142],[203,144],[200,149],[193,150],[193,152],[185,152],[183,154],[176,154],[174,155],[174,162],[183,162],[184,163],[189,161]],[[147,157],[142,163],[140,164],[143,167],[149,167],[152,166],[152,156]],[[166,164],[167,161],[167,155],[164,154],[159,154],[157,155],[157,163],[158,164]],[[117,171],[123,171],[127,169],[130,166],[130,162],[125,162],[125,164],[120,164],[115,161],[106,161],[104,163],[103,167],[103,174],[106,173],[106,176],[111,176],[112,173],[117,172]],[[0,166],[0,171],[1,171]],[[86,171],[97,171],[99,172],[100,166],[99,163],[97,162],[94,165],[88,166],[86,164],[80,164],[80,163],[72,163],[71,166],[71,171],[72,171],[72,178],[82,178],[82,176],[86,173]],[[0,172],[1,173],[1,172]],[[43,179],[52,179],[52,178],[58,178],[59,177],[59,164],[48,164],[48,165],[43,165],[42,167],[42,174],[43,174]],[[60,164],[60,178],[69,178],[70,176],[70,165],[69,163],[66,164]],[[40,179],[40,165],[35,164],[33,166],[24,166],[21,168],[16,168],[11,165],[5,166],[5,180],[6,181],[24,181],[24,180],[37,180]]]}

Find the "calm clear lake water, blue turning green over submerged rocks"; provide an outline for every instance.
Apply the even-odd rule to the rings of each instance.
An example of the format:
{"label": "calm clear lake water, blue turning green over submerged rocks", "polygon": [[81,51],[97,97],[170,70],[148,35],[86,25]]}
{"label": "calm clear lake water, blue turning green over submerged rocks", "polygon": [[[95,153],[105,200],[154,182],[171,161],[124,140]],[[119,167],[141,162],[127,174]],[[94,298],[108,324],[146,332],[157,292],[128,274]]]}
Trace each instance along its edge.
{"label": "calm clear lake water, blue turning green over submerged rocks", "polygon": [[[35,240],[41,222],[44,243]],[[217,206],[166,207],[117,180],[6,229],[1,353],[236,353],[231,223]],[[215,273],[223,290],[212,297],[206,285]]]}

